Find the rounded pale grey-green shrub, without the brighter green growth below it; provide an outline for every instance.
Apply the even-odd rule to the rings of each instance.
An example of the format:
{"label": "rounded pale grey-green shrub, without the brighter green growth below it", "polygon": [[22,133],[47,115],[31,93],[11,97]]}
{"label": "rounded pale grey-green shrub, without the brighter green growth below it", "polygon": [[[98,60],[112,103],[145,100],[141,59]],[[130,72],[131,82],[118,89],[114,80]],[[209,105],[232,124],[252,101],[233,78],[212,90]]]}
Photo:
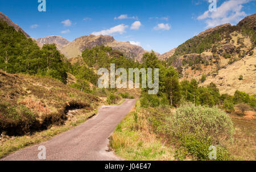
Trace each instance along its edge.
{"label": "rounded pale grey-green shrub, without the brighter green growth below it", "polygon": [[224,111],[195,105],[177,108],[172,119],[176,136],[195,135],[211,138],[214,144],[229,140],[233,135],[233,122]]}

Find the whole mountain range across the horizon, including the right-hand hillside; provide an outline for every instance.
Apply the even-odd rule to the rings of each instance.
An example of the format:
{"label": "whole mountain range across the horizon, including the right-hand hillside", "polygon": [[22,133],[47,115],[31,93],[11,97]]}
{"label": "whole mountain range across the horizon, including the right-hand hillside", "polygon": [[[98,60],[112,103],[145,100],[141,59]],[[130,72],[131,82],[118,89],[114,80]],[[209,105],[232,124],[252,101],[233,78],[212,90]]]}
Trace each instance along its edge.
{"label": "whole mountain range across the horizon, including the right-hand hillside", "polygon": [[[0,19],[30,37],[2,12]],[[169,52],[155,54],[168,65],[175,66],[181,80],[196,78],[201,82],[201,77],[206,75],[207,81],[201,82],[202,86],[214,82],[221,93],[233,94],[240,89],[253,94],[256,93],[255,37],[256,14],[253,14],[241,20],[237,26],[227,23],[209,28]],[[129,41],[117,41],[109,35],[81,36],[73,41],[61,36],[32,39],[39,47],[44,44],[56,44],[57,49],[67,58],[79,57],[85,49],[100,45],[112,47],[139,62],[142,61],[143,54],[148,52],[141,46],[133,45]],[[243,75],[243,79],[238,79],[239,75]]]}

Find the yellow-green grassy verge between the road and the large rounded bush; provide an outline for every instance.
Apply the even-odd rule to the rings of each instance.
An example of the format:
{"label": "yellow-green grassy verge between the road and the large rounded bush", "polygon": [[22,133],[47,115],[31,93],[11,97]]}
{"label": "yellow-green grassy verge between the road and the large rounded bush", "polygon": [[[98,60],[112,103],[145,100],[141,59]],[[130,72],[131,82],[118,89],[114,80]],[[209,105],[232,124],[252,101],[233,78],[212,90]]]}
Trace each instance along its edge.
{"label": "yellow-green grassy verge between the road and the large rounded bush", "polygon": [[149,125],[138,101],[135,108],[115,129],[110,139],[110,146],[125,160],[174,160],[171,146],[160,141],[151,132]]}

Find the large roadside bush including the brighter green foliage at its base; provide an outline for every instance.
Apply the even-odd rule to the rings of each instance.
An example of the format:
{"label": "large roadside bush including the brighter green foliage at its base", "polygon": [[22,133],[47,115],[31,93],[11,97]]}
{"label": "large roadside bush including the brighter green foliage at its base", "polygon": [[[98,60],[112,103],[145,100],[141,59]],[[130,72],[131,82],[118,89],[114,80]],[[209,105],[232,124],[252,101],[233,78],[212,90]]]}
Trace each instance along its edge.
{"label": "large roadside bush including the brighter green foliage at its base", "polygon": [[177,108],[170,121],[172,135],[179,140],[182,150],[176,152],[176,157],[189,154],[197,160],[209,160],[210,145],[220,147],[217,160],[228,157],[228,151],[218,146],[230,141],[234,132],[233,122],[225,112],[218,108],[185,105]]}

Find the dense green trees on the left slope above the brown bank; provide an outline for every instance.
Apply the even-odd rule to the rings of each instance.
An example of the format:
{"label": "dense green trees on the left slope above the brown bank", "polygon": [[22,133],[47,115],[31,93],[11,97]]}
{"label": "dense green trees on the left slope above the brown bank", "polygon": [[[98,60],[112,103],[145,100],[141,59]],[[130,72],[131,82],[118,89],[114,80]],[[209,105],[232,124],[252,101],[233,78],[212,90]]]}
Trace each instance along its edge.
{"label": "dense green trees on the left slope above the brown bank", "polygon": [[7,73],[49,75],[66,83],[64,61],[54,44],[40,49],[35,41],[0,20],[0,69]]}

